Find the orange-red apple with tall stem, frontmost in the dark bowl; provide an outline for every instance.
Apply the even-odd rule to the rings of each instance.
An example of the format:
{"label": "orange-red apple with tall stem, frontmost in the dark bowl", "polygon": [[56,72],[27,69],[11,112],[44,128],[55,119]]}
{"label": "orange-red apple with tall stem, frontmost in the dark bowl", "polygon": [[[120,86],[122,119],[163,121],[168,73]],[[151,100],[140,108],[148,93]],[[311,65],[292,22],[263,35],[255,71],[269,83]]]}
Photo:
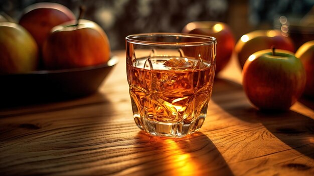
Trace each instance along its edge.
{"label": "orange-red apple with tall stem, frontmost in the dark bowl", "polygon": [[47,69],[66,69],[106,63],[110,45],[106,33],[89,20],[67,22],[54,27],[43,46]]}

